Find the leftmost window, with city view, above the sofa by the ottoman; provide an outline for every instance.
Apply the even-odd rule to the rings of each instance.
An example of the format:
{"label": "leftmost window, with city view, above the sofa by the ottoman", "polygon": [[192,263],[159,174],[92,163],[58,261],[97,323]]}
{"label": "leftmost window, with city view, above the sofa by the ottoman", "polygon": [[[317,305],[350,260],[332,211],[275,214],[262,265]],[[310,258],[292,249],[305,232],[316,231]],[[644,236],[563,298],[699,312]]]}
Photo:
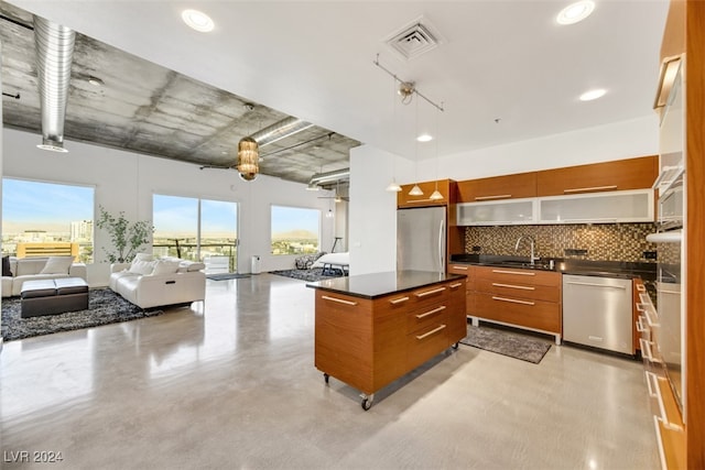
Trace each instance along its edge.
{"label": "leftmost window, with city view, above the sofa by the ottoman", "polygon": [[94,188],[2,179],[2,254],[93,263]]}

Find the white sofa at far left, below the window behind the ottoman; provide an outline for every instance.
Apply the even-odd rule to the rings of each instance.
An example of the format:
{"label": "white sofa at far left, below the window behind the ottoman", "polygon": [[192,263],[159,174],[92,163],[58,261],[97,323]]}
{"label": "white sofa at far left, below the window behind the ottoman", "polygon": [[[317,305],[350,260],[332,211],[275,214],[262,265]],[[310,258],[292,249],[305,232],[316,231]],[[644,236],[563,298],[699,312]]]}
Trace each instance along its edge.
{"label": "white sofa at far left, below the window behind the ottoman", "polygon": [[[25,281],[80,277],[87,281],[86,265],[72,256],[9,258],[11,275],[2,276],[2,297],[18,296]],[[3,270],[4,271],[4,270]],[[6,273],[3,273],[6,274]]]}

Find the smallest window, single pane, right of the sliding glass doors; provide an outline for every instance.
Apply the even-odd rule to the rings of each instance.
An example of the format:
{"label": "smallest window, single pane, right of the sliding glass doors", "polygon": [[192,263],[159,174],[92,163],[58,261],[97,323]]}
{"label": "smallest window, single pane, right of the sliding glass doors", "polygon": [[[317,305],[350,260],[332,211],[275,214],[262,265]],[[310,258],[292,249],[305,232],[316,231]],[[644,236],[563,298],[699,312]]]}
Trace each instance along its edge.
{"label": "smallest window, single pane, right of the sliding glass doors", "polygon": [[316,253],[319,233],[318,209],[272,206],[272,254]]}

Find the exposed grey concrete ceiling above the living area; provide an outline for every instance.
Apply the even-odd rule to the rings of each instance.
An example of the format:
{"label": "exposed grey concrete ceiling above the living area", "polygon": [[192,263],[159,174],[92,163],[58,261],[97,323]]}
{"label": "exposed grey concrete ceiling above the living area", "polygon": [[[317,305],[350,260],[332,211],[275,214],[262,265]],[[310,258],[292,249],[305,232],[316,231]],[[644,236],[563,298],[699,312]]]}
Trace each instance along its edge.
{"label": "exposed grey concrete ceiling above the living area", "polygon": [[[0,2],[6,125],[37,132],[41,107],[33,15]],[[101,85],[90,81],[99,78]],[[235,165],[241,138],[289,116],[76,34],[64,135],[209,170]],[[262,174],[308,183],[346,168],[359,142],[313,125],[260,147]],[[328,182],[329,183],[329,182]]]}

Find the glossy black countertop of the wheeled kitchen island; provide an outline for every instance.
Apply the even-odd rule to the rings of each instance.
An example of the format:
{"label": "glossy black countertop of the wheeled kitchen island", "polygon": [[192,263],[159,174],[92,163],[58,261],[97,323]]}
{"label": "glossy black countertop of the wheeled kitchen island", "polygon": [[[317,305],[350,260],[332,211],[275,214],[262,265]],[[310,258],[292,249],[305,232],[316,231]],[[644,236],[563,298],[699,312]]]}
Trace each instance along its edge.
{"label": "glossy black countertop of the wheeled kitchen island", "polygon": [[319,288],[355,297],[375,299],[384,295],[411,291],[444,281],[463,278],[460,274],[443,274],[429,271],[391,271],[334,277],[313,283],[306,287]]}

